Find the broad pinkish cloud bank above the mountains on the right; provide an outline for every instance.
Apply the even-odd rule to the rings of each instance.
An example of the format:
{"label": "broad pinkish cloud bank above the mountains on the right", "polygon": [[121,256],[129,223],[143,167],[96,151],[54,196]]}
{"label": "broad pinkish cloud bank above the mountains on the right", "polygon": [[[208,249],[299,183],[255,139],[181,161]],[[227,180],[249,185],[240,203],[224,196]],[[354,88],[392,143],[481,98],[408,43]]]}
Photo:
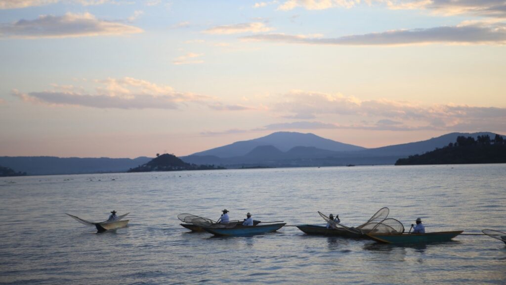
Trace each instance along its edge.
{"label": "broad pinkish cloud bank above the mountains on the right", "polygon": [[[386,99],[360,100],[342,94],[290,91],[271,108],[283,118],[325,119],[322,128],[376,130],[438,129],[506,131],[506,108],[455,104],[423,105]],[[334,120],[347,122],[336,124]],[[369,123],[367,123],[369,122]],[[301,126],[301,122],[297,123]],[[314,125],[317,128],[317,124]]]}

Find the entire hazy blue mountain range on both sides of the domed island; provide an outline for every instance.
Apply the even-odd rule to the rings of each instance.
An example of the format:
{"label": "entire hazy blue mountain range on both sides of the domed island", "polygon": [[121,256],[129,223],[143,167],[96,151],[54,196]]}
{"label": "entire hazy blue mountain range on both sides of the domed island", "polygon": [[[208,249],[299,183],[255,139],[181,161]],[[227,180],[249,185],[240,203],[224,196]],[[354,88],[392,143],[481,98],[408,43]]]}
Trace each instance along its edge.
{"label": "entire hazy blue mountain range on both sides of the domed island", "polygon": [[[207,164],[226,168],[298,167],[394,164],[399,158],[424,154],[455,142],[457,136],[489,135],[491,132],[449,133],[424,141],[366,149],[323,138],[312,133],[275,132],[256,139],[180,157],[186,163]],[[504,136],[503,136],[504,137]],[[148,163],[152,158],[59,158],[0,157],[0,166],[28,175],[126,172]]]}

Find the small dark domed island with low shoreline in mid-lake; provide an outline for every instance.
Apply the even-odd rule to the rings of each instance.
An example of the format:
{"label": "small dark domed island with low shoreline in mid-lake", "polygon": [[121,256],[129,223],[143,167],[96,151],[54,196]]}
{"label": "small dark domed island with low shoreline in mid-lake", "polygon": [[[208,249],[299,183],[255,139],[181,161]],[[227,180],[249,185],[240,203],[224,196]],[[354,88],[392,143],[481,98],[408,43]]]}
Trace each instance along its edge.
{"label": "small dark domed island with low shoreline in mid-lake", "polygon": [[135,168],[130,168],[128,172],[150,172],[150,171],[179,171],[179,170],[210,170],[210,169],[225,169],[225,167],[215,165],[197,165],[193,163],[186,163],[180,158],[172,154],[156,154],[146,164],[139,165]]}

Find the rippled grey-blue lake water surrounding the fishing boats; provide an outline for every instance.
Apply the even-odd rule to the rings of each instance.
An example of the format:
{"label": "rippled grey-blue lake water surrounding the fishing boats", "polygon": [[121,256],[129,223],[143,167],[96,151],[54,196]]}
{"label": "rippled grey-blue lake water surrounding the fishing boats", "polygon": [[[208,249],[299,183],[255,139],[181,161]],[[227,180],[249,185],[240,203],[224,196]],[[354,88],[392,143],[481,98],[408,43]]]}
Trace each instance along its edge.
{"label": "rippled grey-blue lake water surrounding the fishing boats", "polygon": [[[345,225],[381,207],[406,230],[506,230],[506,164],[273,168],[0,178],[2,284],[504,284],[506,246],[487,236],[392,246],[309,236],[296,227],[212,237],[179,213],[287,225]],[[64,213],[129,227],[96,233]]]}

